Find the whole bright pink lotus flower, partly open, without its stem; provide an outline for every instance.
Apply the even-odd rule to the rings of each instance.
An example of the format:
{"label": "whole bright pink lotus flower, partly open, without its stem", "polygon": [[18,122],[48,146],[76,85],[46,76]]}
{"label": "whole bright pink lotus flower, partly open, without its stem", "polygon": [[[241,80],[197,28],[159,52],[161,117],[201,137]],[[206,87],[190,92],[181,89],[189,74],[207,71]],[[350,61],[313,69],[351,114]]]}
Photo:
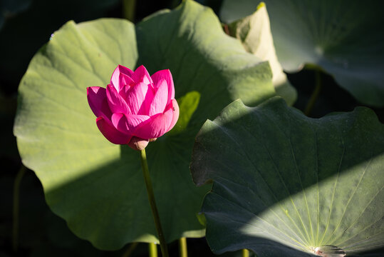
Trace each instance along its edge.
{"label": "whole bright pink lotus flower, partly open, without its stem", "polygon": [[131,71],[119,65],[107,88],[90,86],[87,97],[105,138],[136,150],[170,131],[179,119],[170,70],[150,76],[144,66]]}

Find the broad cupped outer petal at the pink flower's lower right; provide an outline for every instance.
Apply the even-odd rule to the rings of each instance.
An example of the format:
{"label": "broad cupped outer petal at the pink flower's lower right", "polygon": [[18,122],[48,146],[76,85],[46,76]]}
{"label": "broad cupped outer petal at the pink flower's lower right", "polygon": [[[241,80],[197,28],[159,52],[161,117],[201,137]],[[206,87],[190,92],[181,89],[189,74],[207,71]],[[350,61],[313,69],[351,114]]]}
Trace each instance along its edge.
{"label": "broad cupped outer petal at the pink flower's lower right", "polygon": [[164,114],[156,114],[135,129],[135,136],[140,138],[158,138],[164,135],[170,128],[173,120],[173,109],[170,108]]}

